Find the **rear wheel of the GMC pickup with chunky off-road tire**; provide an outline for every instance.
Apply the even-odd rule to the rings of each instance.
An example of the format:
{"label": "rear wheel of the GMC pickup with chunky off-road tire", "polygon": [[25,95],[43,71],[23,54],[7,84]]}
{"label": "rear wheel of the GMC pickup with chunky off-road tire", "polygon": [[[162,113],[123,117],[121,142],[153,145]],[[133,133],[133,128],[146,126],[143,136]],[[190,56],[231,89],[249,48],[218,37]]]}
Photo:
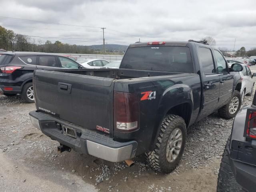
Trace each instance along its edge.
{"label": "rear wheel of the GMC pickup with chunky off-road tire", "polygon": [[146,160],[157,172],[172,172],[182,157],[186,144],[186,123],[177,115],[166,115],[162,121],[155,149],[147,152]]}

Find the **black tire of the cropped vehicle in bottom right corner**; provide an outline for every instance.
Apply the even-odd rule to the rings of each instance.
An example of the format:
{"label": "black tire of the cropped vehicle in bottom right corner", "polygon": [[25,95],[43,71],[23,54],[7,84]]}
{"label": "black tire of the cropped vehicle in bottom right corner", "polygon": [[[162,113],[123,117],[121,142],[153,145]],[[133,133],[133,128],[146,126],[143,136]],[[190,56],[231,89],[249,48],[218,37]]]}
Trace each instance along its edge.
{"label": "black tire of the cropped vehicle in bottom right corner", "polygon": [[218,174],[217,192],[243,192],[240,184],[236,182],[232,168],[228,160],[228,148],[230,145],[230,138],[226,144],[222,160],[220,163],[220,170]]}

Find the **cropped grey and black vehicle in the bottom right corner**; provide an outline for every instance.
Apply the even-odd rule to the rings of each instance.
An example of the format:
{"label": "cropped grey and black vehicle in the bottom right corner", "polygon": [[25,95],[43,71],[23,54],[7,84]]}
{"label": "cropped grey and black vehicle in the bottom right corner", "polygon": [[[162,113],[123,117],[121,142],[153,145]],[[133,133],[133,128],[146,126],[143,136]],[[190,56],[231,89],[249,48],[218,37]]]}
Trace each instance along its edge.
{"label": "cropped grey and black vehicle in the bottom right corner", "polygon": [[[256,76],[254,73],[253,76]],[[255,192],[256,94],[252,106],[243,107],[234,119],[218,175],[217,192]]]}

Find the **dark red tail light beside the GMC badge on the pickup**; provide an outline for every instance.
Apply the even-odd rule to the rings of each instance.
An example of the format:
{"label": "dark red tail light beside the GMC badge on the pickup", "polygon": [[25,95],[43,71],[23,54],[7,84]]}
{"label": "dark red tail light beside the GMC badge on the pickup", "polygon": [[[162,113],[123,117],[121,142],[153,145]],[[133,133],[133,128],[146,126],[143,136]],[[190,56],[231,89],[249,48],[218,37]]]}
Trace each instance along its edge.
{"label": "dark red tail light beside the GMC badge on the pickup", "polygon": [[139,129],[140,106],[136,94],[114,92],[114,129],[132,132]]}

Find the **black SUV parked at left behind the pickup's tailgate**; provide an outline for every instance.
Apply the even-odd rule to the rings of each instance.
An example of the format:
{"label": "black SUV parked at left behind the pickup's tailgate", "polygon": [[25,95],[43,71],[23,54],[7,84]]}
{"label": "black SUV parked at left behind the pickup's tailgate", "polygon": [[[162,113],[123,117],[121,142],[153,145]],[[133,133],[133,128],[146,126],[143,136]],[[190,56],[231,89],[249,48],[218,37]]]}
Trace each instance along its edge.
{"label": "black SUV parked at left behind the pickup's tailgate", "polygon": [[77,62],[49,54],[0,53],[0,93],[5,96],[21,94],[28,102],[34,102],[32,86],[36,69],[54,70],[58,68],[82,68]]}

